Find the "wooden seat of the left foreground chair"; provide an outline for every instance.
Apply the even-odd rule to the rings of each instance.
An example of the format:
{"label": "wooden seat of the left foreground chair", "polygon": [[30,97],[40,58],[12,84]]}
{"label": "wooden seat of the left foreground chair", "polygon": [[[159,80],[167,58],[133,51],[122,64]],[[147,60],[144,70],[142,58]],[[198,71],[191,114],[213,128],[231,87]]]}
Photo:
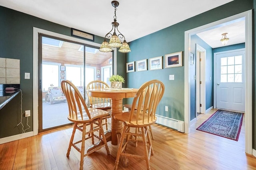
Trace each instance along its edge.
{"label": "wooden seat of the left foreground chair", "polygon": [[76,123],[89,123],[91,121],[93,121],[94,119],[98,119],[99,117],[105,117],[108,116],[109,113],[108,111],[104,111],[102,109],[96,109],[96,108],[88,108],[90,115],[91,115],[91,119],[89,119],[88,115],[86,114],[85,111],[83,111],[83,120],[80,114],[78,114],[78,117],[76,119],[76,116],[74,115],[74,119],[72,119],[71,117],[68,116],[68,120],[72,121],[72,122],[76,122]]}

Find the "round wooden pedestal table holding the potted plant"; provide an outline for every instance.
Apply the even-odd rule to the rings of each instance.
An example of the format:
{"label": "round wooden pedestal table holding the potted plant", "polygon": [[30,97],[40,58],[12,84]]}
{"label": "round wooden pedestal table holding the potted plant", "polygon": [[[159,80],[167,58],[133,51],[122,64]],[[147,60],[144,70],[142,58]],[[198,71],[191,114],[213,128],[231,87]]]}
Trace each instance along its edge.
{"label": "round wooden pedestal table holding the potted plant", "polygon": [[[122,122],[115,120],[114,115],[122,113],[123,110],[123,99],[133,98],[138,92],[138,89],[127,89],[122,88],[121,90],[110,90],[110,89],[89,89],[89,95],[96,98],[111,98],[111,143],[112,145],[118,145],[119,141],[117,135],[122,133],[123,127]],[[108,134],[106,134],[106,137]]]}

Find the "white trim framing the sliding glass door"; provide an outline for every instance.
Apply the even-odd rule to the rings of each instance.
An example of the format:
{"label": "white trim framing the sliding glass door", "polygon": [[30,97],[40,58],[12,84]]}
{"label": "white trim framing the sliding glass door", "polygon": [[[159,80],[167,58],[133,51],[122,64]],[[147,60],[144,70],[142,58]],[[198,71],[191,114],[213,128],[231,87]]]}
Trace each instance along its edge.
{"label": "white trim framing the sliding glass door", "polygon": [[[100,47],[100,44],[33,27],[33,135],[38,134],[38,33]],[[116,48],[114,49],[114,72],[116,73]]]}

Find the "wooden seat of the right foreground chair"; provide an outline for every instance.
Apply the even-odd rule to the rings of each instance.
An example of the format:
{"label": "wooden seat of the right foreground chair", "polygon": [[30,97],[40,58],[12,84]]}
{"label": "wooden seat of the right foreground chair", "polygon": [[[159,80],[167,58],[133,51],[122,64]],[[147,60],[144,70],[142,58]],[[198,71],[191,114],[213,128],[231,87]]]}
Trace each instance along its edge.
{"label": "wooden seat of the right foreground chair", "polygon": [[114,119],[122,121],[128,127],[146,127],[156,122],[156,118],[153,119],[152,121],[148,121],[147,116],[145,116],[144,122],[143,122],[143,119],[139,119],[137,123],[136,113],[137,111],[134,111],[134,116],[132,117],[130,122],[129,122],[130,111],[116,114],[114,115]]}

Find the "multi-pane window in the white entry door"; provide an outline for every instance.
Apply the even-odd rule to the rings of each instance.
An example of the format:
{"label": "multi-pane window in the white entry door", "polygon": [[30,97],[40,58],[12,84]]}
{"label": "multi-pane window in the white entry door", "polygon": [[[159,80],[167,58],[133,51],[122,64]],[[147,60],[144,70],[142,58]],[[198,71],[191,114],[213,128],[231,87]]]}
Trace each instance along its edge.
{"label": "multi-pane window in the white entry door", "polygon": [[220,82],[242,82],[242,55],[220,58]]}

